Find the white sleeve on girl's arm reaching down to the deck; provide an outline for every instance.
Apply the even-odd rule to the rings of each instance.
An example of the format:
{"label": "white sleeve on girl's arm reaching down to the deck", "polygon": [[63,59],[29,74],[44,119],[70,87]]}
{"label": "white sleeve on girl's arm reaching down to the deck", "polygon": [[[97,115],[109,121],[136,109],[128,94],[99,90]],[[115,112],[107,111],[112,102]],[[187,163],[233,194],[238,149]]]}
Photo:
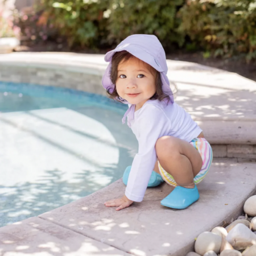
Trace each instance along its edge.
{"label": "white sleeve on girl's arm reaching down to the deck", "polygon": [[158,138],[168,134],[168,122],[161,109],[147,105],[138,118],[139,150],[135,155],[125,191],[128,199],[136,202],[143,200],[148,181],[157,159],[155,143]]}

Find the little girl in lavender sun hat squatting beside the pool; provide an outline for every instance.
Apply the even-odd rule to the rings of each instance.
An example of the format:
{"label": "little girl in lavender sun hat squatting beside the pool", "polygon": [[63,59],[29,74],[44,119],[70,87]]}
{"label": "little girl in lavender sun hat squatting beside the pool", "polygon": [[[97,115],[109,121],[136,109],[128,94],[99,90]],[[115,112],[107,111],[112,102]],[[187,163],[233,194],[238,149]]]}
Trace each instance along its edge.
{"label": "little girl in lavender sun hat squatting beside the pool", "polygon": [[129,104],[122,122],[127,117],[139,143],[123,175],[125,195],[105,206],[129,207],[143,200],[147,187],[166,181],[175,189],[161,204],[187,208],[199,199],[196,184],[209,170],[212,148],[197,123],[174,102],[162,44],[154,35],[131,35],[106,53],[105,61],[110,63],[102,85],[110,98]]}

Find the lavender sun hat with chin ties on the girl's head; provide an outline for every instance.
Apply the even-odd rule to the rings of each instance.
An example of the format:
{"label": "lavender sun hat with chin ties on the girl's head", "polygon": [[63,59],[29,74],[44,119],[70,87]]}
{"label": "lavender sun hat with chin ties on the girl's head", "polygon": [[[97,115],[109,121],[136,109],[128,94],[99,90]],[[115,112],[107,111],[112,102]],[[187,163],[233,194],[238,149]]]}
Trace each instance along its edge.
{"label": "lavender sun hat with chin ties on the girl's head", "polygon": [[[162,80],[162,89],[163,92],[170,94],[170,100],[174,102],[174,96],[172,95],[172,90],[170,88],[170,81],[167,77],[167,63],[166,63],[166,53],[164,52],[163,46],[155,35],[144,35],[144,34],[135,34],[128,36],[125,40],[118,44],[118,46],[105,54],[105,61],[110,62],[106,71],[102,77],[102,85],[107,90],[110,89],[110,92],[114,90],[114,84],[110,79],[110,71],[112,68],[112,57],[115,52],[127,51],[130,52],[133,56],[144,61],[145,63],[151,65],[156,71],[160,72],[160,77]],[[126,100],[122,100],[124,104],[128,104]],[[122,122],[125,123],[127,115],[128,126],[130,127],[130,121],[134,119],[135,105],[131,105],[130,108],[126,111],[123,116]],[[130,114],[131,116],[130,116]]]}

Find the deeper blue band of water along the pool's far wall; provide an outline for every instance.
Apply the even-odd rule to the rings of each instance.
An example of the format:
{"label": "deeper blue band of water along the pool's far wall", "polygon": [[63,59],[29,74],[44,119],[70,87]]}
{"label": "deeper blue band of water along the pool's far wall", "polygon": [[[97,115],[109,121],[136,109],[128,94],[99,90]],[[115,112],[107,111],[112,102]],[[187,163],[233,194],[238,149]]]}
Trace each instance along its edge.
{"label": "deeper blue band of water along the pool's far wall", "polygon": [[123,114],[127,105],[107,97],[54,86],[0,82],[0,112],[28,111],[35,109],[79,108],[100,106]]}

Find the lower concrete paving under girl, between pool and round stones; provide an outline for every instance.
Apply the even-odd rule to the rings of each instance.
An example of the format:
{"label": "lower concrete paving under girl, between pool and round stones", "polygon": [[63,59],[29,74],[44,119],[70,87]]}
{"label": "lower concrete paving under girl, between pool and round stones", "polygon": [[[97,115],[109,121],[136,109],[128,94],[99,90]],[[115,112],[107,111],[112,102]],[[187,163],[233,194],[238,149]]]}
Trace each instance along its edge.
{"label": "lower concrete paving under girl, between pool and round stones", "polygon": [[[142,203],[119,212],[106,208],[104,201],[123,195],[125,185],[119,179],[63,207],[3,226],[0,248],[11,255],[40,256],[46,251],[57,255],[56,251],[61,255],[185,256],[193,251],[200,233],[234,220],[256,192],[255,163],[215,159],[207,176],[197,185],[199,201],[185,210],[160,205],[172,191],[167,184],[147,189]],[[81,248],[84,254],[79,254]]]}

